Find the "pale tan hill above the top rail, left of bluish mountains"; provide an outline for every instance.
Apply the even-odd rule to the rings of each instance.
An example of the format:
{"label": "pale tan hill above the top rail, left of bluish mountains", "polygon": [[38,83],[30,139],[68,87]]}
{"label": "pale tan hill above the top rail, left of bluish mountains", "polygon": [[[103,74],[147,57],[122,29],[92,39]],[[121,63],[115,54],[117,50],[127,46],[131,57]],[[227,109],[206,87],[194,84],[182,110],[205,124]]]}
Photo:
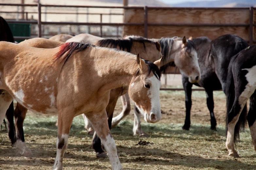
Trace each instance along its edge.
{"label": "pale tan hill above the top rail, left of bluish mountains", "polygon": [[[111,2],[123,4],[123,0],[94,0],[99,2]],[[128,0],[128,5],[134,6],[156,6],[156,7],[166,7],[169,6],[158,0]]]}

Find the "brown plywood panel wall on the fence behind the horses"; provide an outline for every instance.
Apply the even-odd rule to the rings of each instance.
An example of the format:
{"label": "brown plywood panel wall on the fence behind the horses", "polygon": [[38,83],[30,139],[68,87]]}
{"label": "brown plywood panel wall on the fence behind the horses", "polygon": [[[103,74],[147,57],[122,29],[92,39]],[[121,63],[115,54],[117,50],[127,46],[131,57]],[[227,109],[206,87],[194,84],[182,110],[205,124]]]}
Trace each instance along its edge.
{"label": "brown plywood panel wall on the fence behind the horses", "polygon": [[207,36],[214,39],[224,34],[236,34],[248,42],[250,40],[256,42],[256,12],[253,7],[125,9],[124,21],[144,23],[144,25],[125,25],[124,35],[145,36],[146,34],[147,38],[185,35]]}

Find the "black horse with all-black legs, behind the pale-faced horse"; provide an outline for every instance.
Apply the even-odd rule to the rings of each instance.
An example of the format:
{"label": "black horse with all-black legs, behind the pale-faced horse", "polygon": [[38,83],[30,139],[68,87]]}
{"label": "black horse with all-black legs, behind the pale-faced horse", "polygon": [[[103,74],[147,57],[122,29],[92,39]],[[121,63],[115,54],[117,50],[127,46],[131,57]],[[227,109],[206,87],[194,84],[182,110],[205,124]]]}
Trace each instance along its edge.
{"label": "black horse with all-black legs, behind the pale-faced horse", "polygon": [[[213,41],[208,37],[198,37],[193,39],[196,44],[198,64],[201,70],[201,80],[194,83],[196,86],[203,87],[206,92],[207,106],[211,116],[211,129],[216,130],[216,119],[213,108],[213,91],[221,90],[226,83],[228,66],[232,56],[248,47],[246,41],[237,35],[222,35]],[[182,75],[182,84],[185,90],[186,118],[182,129],[190,128],[190,110],[192,83]]]}

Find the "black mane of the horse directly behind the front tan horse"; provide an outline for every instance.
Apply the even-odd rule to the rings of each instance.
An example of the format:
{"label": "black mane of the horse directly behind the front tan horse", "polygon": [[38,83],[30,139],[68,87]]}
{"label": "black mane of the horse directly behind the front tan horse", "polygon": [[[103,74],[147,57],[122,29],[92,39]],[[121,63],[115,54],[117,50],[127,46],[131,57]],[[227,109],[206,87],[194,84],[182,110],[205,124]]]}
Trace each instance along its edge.
{"label": "black mane of the horse directly behind the front tan horse", "polygon": [[128,39],[102,39],[102,40],[99,40],[96,43],[96,45],[100,47],[108,47],[110,45],[111,48],[117,48],[117,46],[119,46],[119,50],[125,51],[126,49],[127,52],[130,52],[134,42],[142,43],[145,51],[146,51],[145,43],[155,44],[155,42],[148,40],[144,37],[134,36],[134,37],[128,37]]}

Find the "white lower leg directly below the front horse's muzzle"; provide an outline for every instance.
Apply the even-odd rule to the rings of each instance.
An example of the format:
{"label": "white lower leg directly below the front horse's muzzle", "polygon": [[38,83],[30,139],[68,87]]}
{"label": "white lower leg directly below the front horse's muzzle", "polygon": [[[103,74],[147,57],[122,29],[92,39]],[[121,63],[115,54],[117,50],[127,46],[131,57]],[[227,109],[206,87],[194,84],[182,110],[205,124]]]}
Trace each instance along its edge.
{"label": "white lower leg directly below the front horse's muzzle", "polygon": [[141,129],[141,113],[136,106],[134,106],[134,124],[132,131],[134,136],[148,137],[148,135]]}

